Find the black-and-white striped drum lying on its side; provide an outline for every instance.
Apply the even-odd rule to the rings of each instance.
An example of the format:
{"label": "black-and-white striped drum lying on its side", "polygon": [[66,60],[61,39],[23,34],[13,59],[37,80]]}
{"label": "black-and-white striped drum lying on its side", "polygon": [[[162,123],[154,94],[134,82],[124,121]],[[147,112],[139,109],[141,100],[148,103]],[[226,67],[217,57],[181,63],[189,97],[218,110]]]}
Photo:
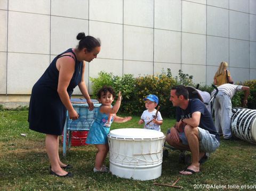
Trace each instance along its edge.
{"label": "black-and-white striped drum lying on its side", "polygon": [[256,144],[256,110],[234,107],[232,112],[231,130],[233,135]]}

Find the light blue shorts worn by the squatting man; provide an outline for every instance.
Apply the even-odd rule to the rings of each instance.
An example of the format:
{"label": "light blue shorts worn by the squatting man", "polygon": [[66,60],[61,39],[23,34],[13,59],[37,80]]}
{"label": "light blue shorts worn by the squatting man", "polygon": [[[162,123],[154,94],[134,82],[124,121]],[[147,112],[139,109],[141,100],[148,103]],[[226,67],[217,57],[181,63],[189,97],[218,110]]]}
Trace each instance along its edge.
{"label": "light blue shorts worn by the squatting man", "polygon": [[[219,140],[216,139],[215,135],[210,134],[209,131],[197,127],[201,140],[199,140],[199,151],[206,153],[212,153],[220,146]],[[185,135],[184,128],[183,132],[179,132],[180,139],[184,145],[188,145],[188,139]]]}

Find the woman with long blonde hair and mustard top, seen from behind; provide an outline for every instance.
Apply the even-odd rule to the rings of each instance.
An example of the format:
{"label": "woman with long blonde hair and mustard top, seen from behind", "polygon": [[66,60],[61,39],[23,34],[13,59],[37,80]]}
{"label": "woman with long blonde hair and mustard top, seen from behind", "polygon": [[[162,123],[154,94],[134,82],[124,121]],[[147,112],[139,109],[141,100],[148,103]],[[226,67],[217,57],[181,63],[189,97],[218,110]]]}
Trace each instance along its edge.
{"label": "woman with long blonde hair and mustard top, seen from behind", "polygon": [[[218,85],[221,86],[222,84],[227,84],[228,81],[231,82],[232,78],[231,78],[231,74],[229,73],[229,71],[227,70],[228,68],[228,63],[227,62],[221,62],[218,71],[215,73],[214,76],[214,85]],[[226,70],[228,72],[228,80],[227,80],[227,74],[226,74]]]}

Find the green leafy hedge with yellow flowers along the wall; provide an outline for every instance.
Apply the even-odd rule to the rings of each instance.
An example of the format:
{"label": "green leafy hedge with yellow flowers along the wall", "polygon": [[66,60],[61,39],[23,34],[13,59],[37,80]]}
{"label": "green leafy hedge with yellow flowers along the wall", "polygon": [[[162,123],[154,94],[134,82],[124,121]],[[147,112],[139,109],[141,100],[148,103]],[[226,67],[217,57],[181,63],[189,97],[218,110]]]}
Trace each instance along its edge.
{"label": "green leafy hedge with yellow flowers along the wall", "polygon": [[[122,104],[119,113],[131,115],[141,115],[142,112],[146,110],[143,98],[147,97],[149,94],[154,94],[159,99],[158,105],[160,106],[159,111],[161,111],[161,114],[164,117],[174,118],[175,107],[173,107],[172,102],[170,102],[171,87],[181,84],[196,87],[192,81],[193,76],[184,74],[181,70],[179,70],[179,76],[175,77],[172,76],[171,69],[167,69],[166,72],[162,70],[161,74],[157,73],[156,75],[139,76],[137,78],[134,78],[132,74],[124,74],[122,77],[118,77],[114,76],[113,73],[104,71],[98,74],[98,78],[90,78],[93,84],[92,97],[97,99],[96,94],[98,89],[103,85],[112,86],[116,90],[116,93],[121,91]],[[243,85],[242,82],[237,84]],[[251,84],[255,85],[253,82]],[[198,89],[211,94],[213,87],[201,85]],[[255,89],[251,89],[247,104],[247,107],[250,109],[255,109],[255,94]],[[233,107],[241,106],[243,97],[243,92],[237,93],[232,99]]]}

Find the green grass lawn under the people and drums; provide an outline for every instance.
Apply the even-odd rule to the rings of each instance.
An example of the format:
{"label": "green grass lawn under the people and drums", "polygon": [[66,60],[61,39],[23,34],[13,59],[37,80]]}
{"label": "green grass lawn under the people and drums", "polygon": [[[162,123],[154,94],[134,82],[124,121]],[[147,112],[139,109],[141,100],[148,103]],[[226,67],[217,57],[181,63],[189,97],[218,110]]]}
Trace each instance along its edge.
{"label": "green grass lawn under the people and drums", "polygon": [[[74,177],[55,177],[50,175],[45,135],[28,128],[27,115],[28,111],[0,111],[0,190],[177,190],[154,183],[172,185],[179,177],[175,185],[182,186],[182,190],[256,189],[256,145],[243,140],[221,139],[218,150],[202,165],[202,173],[192,176],[179,175],[188,164],[179,162],[180,151],[168,149],[161,177],[140,181],[119,178],[111,173],[94,173],[97,150],[93,145],[71,147],[63,157],[60,137],[61,160],[74,166],[69,170]],[[143,128],[138,125],[139,119],[133,117],[126,123],[113,123],[111,129]],[[174,119],[164,118],[162,132],[166,134],[174,123]],[[107,166],[108,159],[107,156]],[[206,189],[208,185],[210,188]]]}

